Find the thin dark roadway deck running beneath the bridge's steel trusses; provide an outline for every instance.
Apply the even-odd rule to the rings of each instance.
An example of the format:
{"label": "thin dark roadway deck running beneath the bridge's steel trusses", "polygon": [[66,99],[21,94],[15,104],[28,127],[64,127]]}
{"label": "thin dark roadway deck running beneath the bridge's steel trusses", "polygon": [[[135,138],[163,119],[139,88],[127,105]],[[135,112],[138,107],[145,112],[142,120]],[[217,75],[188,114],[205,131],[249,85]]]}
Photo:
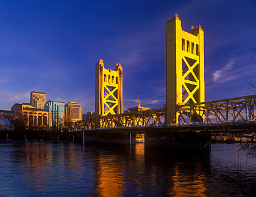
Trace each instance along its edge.
{"label": "thin dark roadway deck running beneath the bridge's steel trusses", "polygon": [[171,123],[171,124],[158,124],[158,125],[142,125],[142,126],[115,126],[104,128],[90,128],[84,130],[73,130],[71,133],[81,131],[135,131],[136,133],[144,133],[147,130],[155,131],[199,131],[208,133],[248,133],[256,130],[256,120],[236,120],[236,121],[223,121],[223,122],[191,122],[191,123]]}

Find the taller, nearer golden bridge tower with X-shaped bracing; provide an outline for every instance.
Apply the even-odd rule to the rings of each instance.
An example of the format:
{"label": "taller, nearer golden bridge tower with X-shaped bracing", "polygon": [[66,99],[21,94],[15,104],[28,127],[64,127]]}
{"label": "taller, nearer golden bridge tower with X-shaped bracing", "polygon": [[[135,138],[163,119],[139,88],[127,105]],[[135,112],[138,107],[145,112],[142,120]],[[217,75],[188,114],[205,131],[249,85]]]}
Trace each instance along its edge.
{"label": "taller, nearer golden bridge tower with X-shaped bracing", "polygon": [[[204,102],[204,31],[182,30],[177,14],[166,23],[165,123],[177,123],[176,105]],[[202,112],[199,112],[202,116]]]}

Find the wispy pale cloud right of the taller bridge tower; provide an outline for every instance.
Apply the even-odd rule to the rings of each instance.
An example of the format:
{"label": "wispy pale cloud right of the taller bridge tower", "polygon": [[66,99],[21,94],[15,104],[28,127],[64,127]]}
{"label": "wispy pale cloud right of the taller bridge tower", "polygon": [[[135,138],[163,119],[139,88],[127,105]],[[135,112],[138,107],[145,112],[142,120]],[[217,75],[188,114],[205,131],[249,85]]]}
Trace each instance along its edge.
{"label": "wispy pale cloud right of the taller bridge tower", "polygon": [[227,71],[230,71],[233,68],[233,64],[235,64],[235,58],[231,58],[226,66],[218,69],[217,71],[213,72],[213,82],[216,83],[224,83],[227,81],[232,81],[237,78],[237,75],[228,76]]}

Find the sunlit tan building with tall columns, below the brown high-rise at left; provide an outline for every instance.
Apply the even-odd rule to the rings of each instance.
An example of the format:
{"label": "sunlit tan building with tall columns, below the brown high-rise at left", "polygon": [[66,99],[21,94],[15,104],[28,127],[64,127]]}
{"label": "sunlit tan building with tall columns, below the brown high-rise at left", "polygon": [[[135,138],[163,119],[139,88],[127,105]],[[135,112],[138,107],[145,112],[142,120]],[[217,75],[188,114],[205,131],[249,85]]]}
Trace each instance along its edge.
{"label": "sunlit tan building with tall columns, below the brown high-rise at left", "polygon": [[37,109],[30,103],[15,103],[12,111],[15,117],[23,120],[27,127],[49,129],[49,111],[46,109]]}

